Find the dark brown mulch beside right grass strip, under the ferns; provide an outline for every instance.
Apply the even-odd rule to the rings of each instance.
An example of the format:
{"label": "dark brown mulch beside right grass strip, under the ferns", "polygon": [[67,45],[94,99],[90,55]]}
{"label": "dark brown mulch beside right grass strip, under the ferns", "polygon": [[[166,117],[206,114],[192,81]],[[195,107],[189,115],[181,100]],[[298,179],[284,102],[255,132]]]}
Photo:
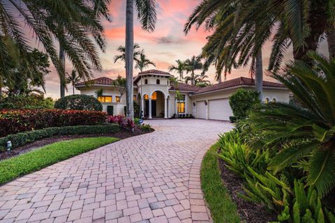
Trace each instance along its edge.
{"label": "dark brown mulch beside right grass strip, under the ferns", "polygon": [[236,203],[237,212],[244,222],[248,223],[267,223],[276,221],[276,214],[269,213],[263,206],[251,201],[246,201],[238,194],[245,194],[242,185],[243,180],[225,167],[225,162],[218,159],[218,166],[221,170],[223,184],[230,192],[232,201]]}

